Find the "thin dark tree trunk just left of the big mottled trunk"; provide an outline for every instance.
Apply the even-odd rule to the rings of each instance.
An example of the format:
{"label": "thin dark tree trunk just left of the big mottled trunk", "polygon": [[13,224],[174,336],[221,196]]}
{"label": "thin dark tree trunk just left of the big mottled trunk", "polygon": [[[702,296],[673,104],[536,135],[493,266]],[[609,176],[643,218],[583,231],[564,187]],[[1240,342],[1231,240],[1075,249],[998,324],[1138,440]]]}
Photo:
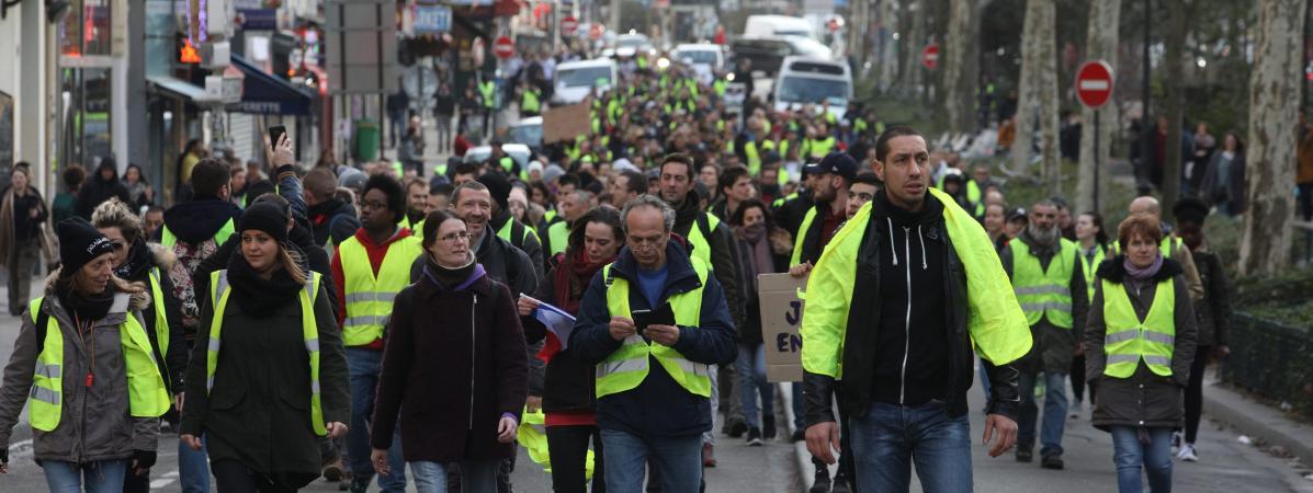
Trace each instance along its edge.
{"label": "thin dark tree trunk just left of the big mottled trunk", "polygon": [[[1173,222],[1171,207],[1180,197],[1180,180],[1187,152],[1182,149],[1182,128],[1186,115],[1186,35],[1190,28],[1190,16],[1195,14],[1192,0],[1165,0],[1167,7],[1167,33],[1163,39],[1163,115],[1167,118],[1167,138],[1162,153],[1162,216],[1166,222]],[[1194,155],[1194,151],[1190,149]],[[1192,156],[1191,156],[1192,157]]]}

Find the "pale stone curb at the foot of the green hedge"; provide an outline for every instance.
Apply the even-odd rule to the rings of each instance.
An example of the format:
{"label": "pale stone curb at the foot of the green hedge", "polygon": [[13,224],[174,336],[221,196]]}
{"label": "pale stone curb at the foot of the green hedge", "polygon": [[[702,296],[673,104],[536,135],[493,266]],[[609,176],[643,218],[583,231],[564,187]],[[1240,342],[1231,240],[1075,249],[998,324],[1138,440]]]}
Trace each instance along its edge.
{"label": "pale stone curb at the foot of the green hedge", "polygon": [[1204,413],[1225,421],[1250,438],[1285,448],[1304,464],[1313,464],[1313,427],[1220,385],[1216,371],[1204,376]]}

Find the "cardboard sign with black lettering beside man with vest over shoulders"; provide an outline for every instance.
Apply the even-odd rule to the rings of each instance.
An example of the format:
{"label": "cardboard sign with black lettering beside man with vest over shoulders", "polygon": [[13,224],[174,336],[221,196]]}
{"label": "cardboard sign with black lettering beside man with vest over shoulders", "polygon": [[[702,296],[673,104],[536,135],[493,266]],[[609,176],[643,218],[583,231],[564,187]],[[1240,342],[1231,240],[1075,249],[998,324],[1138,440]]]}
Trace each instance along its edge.
{"label": "cardboard sign with black lettering beside man with vest over shoulders", "polygon": [[802,382],[802,300],[807,278],[785,274],[759,274],[762,296],[762,341],[765,344],[765,379],[768,382]]}

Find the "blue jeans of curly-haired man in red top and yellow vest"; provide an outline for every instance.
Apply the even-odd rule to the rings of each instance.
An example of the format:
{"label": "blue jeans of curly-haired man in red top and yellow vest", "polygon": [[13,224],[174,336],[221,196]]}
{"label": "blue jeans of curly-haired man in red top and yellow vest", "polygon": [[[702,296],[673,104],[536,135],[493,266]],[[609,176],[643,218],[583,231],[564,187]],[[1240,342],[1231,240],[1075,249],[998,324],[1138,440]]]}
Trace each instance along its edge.
{"label": "blue jeans of curly-haired man in red top and yellow vest", "polygon": [[[378,371],[382,367],[383,351],[361,347],[347,347],[347,367],[351,371],[351,426],[347,431],[347,459],[356,481],[374,476],[374,465],[369,463],[369,420],[374,414],[374,392],[378,389]],[[387,451],[387,464],[393,473],[378,479],[378,488],[385,493],[406,490],[406,460],[402,459],[400,426],[393,435],[393,448]]]}

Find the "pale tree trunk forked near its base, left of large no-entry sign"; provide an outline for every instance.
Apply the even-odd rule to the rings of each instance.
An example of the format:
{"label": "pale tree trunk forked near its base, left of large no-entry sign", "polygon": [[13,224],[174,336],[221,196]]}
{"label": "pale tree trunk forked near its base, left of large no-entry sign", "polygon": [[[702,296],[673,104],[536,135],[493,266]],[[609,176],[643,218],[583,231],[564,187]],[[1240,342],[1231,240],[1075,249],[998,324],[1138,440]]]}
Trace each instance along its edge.
{"label": "pale tree trunk forked near its base, left of large no-entry sign", "polygon": [[[1058,180],[1058,58],[1054,33],[1054,0],[1025,3],[1022,30],[1022,87],[1016,105],[1016,142],[1012,144],[1012,173],[1024,173],[1031,160],[1036,123],[1040,126],[1040,155],[1044,178],[1056,189]],[[1056,191],[1056,190],[1050,190]]]}

